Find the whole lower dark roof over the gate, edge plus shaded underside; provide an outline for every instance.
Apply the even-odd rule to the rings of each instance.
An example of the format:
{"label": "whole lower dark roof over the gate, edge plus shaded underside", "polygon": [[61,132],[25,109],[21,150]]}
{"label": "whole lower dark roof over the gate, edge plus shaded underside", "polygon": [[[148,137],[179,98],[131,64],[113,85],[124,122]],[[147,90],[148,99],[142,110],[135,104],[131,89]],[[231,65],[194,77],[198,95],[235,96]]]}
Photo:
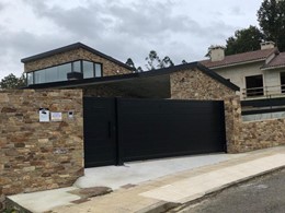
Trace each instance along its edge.
{"label": "whole lower dark roof over the gate, edge plus shaded underside", "polygon": [[170,98],[170,75],[178,71],[191,70],[194,68],[201,70],[205,74],[228,86],[232,91],[239,91],[239,87],[237,85],[230,83],[223,76],[218,75],[216,72],[207,69],[206,67],[197,62],[140,73],[34,84],[30,85],[26,88],[75,88],[84,86],[96,87],[101,85],[107,85],[115,90],[127,91],[129,94],[138,97]]}

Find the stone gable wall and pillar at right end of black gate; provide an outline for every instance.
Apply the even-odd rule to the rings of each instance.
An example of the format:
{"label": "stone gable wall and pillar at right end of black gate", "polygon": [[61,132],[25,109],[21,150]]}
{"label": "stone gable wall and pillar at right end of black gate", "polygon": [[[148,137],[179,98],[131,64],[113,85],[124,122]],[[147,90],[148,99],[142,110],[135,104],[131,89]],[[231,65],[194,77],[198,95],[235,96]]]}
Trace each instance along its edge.
{"label": "stone gable wall and pillar at right end of black gate", "polygon": [[172,73],[170,83],[171,98],[173,99],[225,100],[227,151],[233,152],[235,128],[237,120],[240,119],[238,110],[235,110],[233,107],[233,100],[239,99],[236,92],[198,69]]}

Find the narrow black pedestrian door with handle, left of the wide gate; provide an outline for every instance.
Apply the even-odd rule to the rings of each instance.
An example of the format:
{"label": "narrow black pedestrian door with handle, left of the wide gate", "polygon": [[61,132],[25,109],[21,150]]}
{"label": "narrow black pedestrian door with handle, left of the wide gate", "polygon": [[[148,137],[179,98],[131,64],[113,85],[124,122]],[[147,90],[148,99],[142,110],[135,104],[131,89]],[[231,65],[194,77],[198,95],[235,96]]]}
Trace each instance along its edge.
{"label": "narrow black pedestrian door with handle, left of the wide gate", "polygon": [[84,98],[86,167],[115,165],[117,159],[114,98]]}

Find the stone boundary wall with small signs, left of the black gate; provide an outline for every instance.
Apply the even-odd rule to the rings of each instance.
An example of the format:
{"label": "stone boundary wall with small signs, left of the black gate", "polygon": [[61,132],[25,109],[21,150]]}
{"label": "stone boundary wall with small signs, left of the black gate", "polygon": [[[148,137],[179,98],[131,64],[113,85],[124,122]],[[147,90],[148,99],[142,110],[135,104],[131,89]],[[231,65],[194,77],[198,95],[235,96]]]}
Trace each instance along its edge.
{"label": "stone boundary wall with small signs, left of the black gate", "polygon": [[[39,122],[42,107],[62,113],[62,120]],[[73,118],[68,118],[69,110]],[[80,90],[0,92],[0,174],[2,200],[71,186],[83,175]]]}

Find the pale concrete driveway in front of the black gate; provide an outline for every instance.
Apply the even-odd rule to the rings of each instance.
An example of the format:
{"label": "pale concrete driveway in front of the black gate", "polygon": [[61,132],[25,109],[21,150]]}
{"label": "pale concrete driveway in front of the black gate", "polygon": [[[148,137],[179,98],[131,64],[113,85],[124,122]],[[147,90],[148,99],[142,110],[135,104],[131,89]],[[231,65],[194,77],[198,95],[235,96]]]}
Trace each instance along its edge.
{"label": "pale concrete driveway in front of the black gate", "polygon": [[124,166],[104,166],[87,168],[86,175],[79,178],[75,187],[89,188],[95,186],[110,187],[113,190],[123,186],[138,185],[166,175],[197,168],[201,166],[225,162],[241,154],[207,154],[183,157],[152,159],[126,163]]}

